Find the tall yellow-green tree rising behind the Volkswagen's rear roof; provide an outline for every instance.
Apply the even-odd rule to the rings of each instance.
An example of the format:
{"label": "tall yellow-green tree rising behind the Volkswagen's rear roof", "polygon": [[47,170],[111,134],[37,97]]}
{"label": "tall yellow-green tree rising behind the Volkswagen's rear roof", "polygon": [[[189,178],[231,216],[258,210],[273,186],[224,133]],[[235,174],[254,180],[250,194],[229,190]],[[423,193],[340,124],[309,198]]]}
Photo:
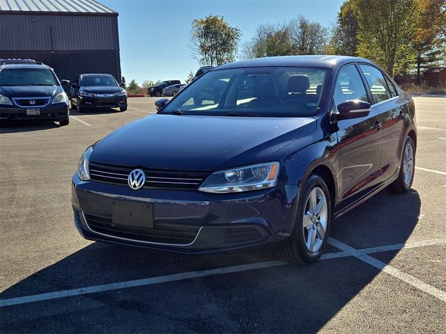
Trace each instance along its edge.
{"label": "tall yellow-green tree rising behind the Volkswagen's rear roof", "polygon": [[357,54],[381,65],[390,75],[415,63],[415,0],[357,0]]}

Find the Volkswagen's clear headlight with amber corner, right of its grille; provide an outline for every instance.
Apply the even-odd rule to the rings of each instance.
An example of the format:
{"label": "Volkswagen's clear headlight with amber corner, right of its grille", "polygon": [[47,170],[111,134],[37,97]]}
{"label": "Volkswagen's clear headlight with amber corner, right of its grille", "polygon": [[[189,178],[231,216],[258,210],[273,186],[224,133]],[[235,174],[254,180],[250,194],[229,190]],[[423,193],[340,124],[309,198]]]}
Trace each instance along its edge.
{"label": "Volkswagen's clear headlight with amber corner, right of its grille", "polygon": [[200,186],[206,193],[238,193],[272,188],[277,184],[279,163],[268,162],[212,173]]}

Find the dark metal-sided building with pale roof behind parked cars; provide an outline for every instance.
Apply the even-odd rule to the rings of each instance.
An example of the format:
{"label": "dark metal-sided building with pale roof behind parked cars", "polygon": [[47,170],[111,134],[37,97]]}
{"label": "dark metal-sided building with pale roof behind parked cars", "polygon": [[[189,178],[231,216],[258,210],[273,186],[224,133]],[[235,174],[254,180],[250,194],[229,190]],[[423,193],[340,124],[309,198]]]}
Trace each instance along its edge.
{"label": "dark metal-sided building with pale roof behind parked cars", "polygon": [[95,0],[0,0],[0,58],[31,58],[59,79],[108,73],[121,82],[118,13]]}

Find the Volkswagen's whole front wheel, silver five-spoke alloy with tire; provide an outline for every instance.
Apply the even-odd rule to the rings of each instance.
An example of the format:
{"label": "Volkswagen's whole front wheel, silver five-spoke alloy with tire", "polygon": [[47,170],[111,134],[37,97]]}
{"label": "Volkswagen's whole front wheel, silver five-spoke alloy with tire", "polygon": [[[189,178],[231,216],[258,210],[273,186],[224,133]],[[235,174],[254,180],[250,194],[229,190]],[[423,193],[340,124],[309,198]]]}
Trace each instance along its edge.
{"label": "Volkswagen's whole front wheel, silver five-spoke alloy with tire", "polygon": [[327,243],[331,223],[330,192],[322,177],[311,175],[302,189],[294,232],[279,257],[294,264],[318,260]]}

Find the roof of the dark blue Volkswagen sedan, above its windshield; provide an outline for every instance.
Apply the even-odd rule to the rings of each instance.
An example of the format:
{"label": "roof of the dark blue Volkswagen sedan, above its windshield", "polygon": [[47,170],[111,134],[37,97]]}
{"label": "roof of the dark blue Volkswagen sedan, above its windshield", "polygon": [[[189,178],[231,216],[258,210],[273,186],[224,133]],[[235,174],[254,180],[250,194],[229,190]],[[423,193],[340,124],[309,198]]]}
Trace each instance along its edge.
{"label": "roof of the dark blue Volkswagen sedan, above its windshield", "polygon": [[344,65],[352,61],[360,61],[364,63],[371,63],[365,58],[352,56],[330,56],[330,55],[315,55],[315,56],[277,56],[266,58],[247,59],[245,61],[235,61],[219,67],[215,70],[239,67],[268,67],[268,66],[302,66],[302,67],[326,67],[334,68]]}

